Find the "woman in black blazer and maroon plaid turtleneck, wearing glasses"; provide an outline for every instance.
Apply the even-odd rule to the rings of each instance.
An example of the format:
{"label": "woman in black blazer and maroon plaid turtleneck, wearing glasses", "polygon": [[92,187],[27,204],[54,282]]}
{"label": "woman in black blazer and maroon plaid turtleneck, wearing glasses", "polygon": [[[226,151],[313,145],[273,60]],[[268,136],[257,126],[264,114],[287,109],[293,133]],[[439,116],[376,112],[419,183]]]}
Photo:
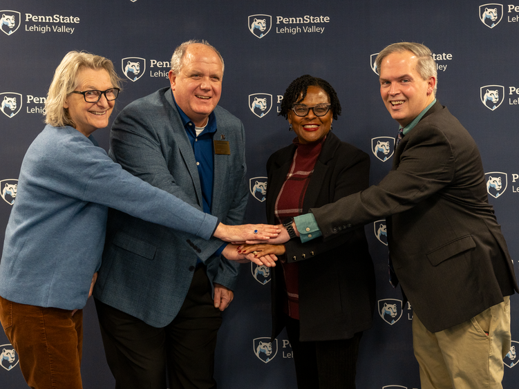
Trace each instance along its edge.
{"label": "woman in black blazer and maroon plaid turtleneck, wearing glasses", "polygon": [[[340,114],[337,93],[323,79],[303,75],[285,91],[279,115],[297,137],[267,162],[269,223],[291,222],[368,187],[368,155],[330,132]],[[281,260],[272,273],[272,339],[287,328],[298,388],[355,388],[359,341],[375,307],[364,228],[304,245],[292,239],[240,250]]]}

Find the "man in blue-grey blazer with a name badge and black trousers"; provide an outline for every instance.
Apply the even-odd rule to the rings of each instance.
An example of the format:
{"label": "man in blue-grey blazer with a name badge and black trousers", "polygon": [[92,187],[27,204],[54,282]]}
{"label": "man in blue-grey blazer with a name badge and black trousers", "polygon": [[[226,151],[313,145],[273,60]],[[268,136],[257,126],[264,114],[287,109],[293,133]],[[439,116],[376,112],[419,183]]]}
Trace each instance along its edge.
{"label": "man in blue-grey blazer with a name badge and black trousers", "polygon": [[[205,41],[180,45],[171,88],[129,104],[111,130],[124,169],[228,225],[247,205],[243,124],[217,106],[223,59]],[[151,199],[142,199],[151,200]],[[116,388],[216,388],[220,311],[233,298],[236,250],[111,210],[95,285]]]}

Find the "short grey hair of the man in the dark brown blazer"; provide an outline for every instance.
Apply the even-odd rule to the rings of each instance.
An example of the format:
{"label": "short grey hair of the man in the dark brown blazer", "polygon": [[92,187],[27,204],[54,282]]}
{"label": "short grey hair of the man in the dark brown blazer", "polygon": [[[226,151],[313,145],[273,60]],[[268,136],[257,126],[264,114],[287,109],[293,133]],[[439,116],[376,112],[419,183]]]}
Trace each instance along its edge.
{"label": "short grey hair of the man in the dark brown blazer", "polygon": [[436,62],[433,59],[433,55],[431,50],[427,46],[422,44],[415,44],[413,42],[398,42],[396,44],[390,44],[384,50],[382,50],[379,55],[377,55],[377,59],[375,59],[375,65],[377,66],[377,70],[380,74],[380,66],[384,58],[392,53],[404,53],[404,51],[410,51],[418,58],[417,63],[417,72],[422,77],[422,79],[428,79],[429,77],[435,77],[436,84],[434,87],[434,94],[436,95],[436,90],[438,87],[438,77],[436,70]]}

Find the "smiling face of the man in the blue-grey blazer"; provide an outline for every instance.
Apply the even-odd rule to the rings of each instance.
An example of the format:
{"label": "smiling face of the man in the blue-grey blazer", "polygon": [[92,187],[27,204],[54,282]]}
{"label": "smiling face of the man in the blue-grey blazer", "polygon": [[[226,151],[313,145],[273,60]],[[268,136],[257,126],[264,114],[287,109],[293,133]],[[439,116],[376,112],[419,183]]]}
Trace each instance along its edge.
{"label": "smiling face of the man in the blue-grey blazer", "polygon": [[169,70],[175,101],[196,126],[204,126],[220,101],[223,65],[216,52],[204,44],[191,44],[182,59],[180,74]]}

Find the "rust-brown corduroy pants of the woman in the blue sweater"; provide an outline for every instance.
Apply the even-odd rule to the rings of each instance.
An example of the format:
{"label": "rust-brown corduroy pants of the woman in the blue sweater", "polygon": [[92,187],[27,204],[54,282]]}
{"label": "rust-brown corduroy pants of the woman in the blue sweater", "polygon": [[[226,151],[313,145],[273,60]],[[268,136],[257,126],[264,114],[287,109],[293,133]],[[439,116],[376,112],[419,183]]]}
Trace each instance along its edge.
{"label": "rust-brown corduroy pants of the woman in the blue sweater", "polygon": [[82,389],[83,310],[72,316],[0,297],[0,321],[30,388]]}

